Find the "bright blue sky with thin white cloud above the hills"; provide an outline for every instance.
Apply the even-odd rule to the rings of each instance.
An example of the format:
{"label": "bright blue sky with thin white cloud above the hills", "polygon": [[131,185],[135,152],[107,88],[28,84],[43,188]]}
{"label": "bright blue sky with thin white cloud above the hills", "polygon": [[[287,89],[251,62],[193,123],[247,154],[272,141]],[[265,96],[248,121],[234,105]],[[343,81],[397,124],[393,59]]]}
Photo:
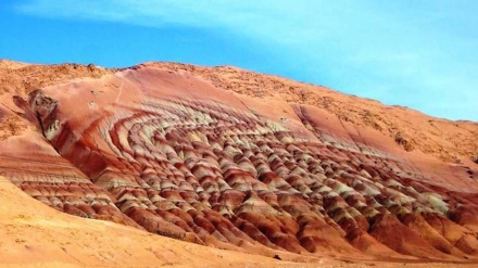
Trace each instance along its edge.
{"label": "bright blue sky with thin white cloud above the hills", "polygon": [[475,0],[3,0],[0,59],[232,65],[478,122]]}

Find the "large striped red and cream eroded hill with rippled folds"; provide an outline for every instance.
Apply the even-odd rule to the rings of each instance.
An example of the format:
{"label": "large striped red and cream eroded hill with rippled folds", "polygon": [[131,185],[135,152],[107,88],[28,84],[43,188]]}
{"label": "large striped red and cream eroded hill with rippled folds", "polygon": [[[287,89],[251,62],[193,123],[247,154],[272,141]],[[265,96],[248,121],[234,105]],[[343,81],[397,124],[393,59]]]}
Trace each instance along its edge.
{"label": "large striped red and cream eroded hill with rippled folds", "polygon": [[5,93],[0,175],[59,210],[199,244],[476,261],[468,155],[445,163],[303,101],[240,93],[155,64]]}

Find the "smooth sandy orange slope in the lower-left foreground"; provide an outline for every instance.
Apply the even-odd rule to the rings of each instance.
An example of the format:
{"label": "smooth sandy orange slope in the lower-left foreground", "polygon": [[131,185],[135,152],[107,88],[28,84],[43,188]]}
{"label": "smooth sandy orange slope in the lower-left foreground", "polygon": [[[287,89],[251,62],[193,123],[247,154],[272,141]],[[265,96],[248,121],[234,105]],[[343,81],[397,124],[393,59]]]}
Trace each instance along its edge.
{"label": "smooth sandy orange slope in the lower-left foreground", "polygon": [[163,238],[110,221],[83,219],[32,200],[2,177],[0,193],[1,267],[219,268],[344,265],[337,260],[292,258],[287,255],[282,257],[294,263],[279,261]]}

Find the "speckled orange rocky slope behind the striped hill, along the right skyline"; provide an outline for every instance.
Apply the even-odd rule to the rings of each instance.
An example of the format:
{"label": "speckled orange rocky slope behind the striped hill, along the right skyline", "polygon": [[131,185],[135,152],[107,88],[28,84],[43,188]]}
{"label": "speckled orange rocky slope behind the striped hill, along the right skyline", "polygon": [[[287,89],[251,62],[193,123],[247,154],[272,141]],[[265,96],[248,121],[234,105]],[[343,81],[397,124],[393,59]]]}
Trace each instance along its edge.
{"label": "speckled orange rocky slope behind the striped hill, along the right skyline", "polygon": [[406,151],[419,150],[445,162],[458,164],[478,159],[476,122],[436,118],[407,107],[387,106],[375,100],[343,94],[326,87],[231,66],[202,67],[180,63],[146,65],[191,72],[218,88],[240,94],[325,109],[343,122],[366,126],[393,138]]}

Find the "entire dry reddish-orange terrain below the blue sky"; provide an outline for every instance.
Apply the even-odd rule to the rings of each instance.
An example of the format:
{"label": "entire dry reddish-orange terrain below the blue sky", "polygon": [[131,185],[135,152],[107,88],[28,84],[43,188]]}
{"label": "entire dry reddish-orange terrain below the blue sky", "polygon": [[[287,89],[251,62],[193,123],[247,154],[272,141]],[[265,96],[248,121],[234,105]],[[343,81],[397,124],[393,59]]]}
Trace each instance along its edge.
{"label": "entire dry reddish-orange terrain below the blue sky", "polygon": [[477,123],[177,63],[0,61],[0,104],[4,265],[478,263]]}

